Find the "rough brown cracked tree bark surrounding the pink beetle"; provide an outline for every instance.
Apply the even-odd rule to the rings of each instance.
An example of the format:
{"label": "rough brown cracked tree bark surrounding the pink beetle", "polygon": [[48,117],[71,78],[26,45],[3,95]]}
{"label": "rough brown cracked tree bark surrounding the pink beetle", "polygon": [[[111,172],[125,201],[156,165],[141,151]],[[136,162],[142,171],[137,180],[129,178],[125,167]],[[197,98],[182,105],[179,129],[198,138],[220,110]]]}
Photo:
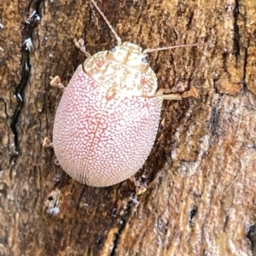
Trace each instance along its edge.
{"label": "rough brown cracked tree bark surrounding the pink beetle", "polygon": [[200,99],[164,103],[137,174],[143,195],[128,181],[77,183],[42,146],[61,98],[49,76],[67,84],[84,61],[73,38],[91,54],[115,39],[89,1],[2,1],[0,255],[253,255],[256,3],[98,3],[122,41],[143,49],[211,41],[148,58],[160,88],[194,85]]}

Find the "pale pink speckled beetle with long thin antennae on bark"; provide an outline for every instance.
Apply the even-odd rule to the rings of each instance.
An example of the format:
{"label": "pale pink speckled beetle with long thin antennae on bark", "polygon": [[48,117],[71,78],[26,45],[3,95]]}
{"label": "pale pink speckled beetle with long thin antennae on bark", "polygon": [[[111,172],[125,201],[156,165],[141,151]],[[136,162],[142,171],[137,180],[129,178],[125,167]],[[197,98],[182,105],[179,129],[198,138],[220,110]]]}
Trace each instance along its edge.
{"label": "pale pink speckled beetle with long thin antennae on bark", "polygon": [[[89,56],[64,90],[55,113],[53,146],[62,168],[80,183],[105,187],[133,176],[148,158],[158,126],[163,100],[179,95],[157,90],[157,78],[146,59],[154,50],[121,43],[96,5],[118,44]],[[83,40],[75,44],[85,55]],[[63,88],[56,77],[51,85]]]}

